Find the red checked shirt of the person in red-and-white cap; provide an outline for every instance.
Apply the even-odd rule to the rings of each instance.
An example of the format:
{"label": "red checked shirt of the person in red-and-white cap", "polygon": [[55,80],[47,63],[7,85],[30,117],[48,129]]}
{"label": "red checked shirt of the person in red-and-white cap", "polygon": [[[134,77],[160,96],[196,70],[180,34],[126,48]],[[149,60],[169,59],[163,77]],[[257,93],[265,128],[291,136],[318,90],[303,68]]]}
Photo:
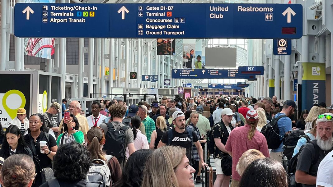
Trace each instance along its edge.
{"label": "red checked shirt of the person in red-and-white cap", "polygon": [[246,124],[242,127],[233,129],[228,137],[225,149],[232,152],[232,179],[240,181],[240,176],[236,171],[236,165],[242,154],[249,149],[257,149],[266,157],[269,157],[269,151],[266,138],[259,131],[255,130],[255,134],[250,141],[247,133],[251,130],[251,126]]}

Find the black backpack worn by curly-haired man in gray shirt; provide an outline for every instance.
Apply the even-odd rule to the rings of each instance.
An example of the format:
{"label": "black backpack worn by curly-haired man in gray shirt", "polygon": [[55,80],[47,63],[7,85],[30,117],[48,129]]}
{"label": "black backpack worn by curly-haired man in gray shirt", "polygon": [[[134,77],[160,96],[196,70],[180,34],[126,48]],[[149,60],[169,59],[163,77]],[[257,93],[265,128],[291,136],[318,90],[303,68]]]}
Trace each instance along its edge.
{"label": "black backpack worn by curly-haired man in gray shirt", "polygon": [[113,125],[112,122],[106,125],[108,126],[108,132],[105,135],[103,150],[105,150],[107,154],[115,156],[119,163],[125,163],[125,151],[127,147],[125,145],[125,131],[130,129],[130,127],[125,125],[118,130],[114,127],[120,127],[120,125]]}

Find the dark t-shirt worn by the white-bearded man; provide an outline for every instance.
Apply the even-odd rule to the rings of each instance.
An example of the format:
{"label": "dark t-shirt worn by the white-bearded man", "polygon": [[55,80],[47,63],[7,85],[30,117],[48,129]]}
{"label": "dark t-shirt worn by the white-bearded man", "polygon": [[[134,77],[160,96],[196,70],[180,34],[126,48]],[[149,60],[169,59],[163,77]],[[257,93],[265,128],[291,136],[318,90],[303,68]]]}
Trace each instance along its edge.
{"label": "dark t-shirt worn by the white-bearded man", "polygon": [[[317,142],[317,140],[315,141]],[[301,170],[308,173],[309,175],[317,176],[317,171],[321,160],[323,160],[324,157],[329,152],[331,152],[331,150],[323,151],[322,149],[319,148],[319,157],[318,161],[316,162],[314,160],[315,159],[314,145],[312,143],[306,143],[302,148],[302,151],[299,153],[296,170]],[[314,164],[312,165],[312,163]],[[316,185],[303,184],[303,187],[316,187]]]}

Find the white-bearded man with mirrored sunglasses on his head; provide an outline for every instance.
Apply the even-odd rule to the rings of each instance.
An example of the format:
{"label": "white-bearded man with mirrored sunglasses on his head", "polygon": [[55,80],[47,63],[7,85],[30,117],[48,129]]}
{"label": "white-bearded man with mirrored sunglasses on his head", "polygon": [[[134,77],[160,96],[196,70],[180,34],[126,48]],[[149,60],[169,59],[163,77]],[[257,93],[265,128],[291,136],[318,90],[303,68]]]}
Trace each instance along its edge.
{"label": "white-bearded man with mirrored sunglasses on his head", "polygon": [[298,157],[295,180],[303,184],[303,187],[316,187],[319,164],[333,150],[333,114],[319,115],[316,129],[316,139],[308,141]]}

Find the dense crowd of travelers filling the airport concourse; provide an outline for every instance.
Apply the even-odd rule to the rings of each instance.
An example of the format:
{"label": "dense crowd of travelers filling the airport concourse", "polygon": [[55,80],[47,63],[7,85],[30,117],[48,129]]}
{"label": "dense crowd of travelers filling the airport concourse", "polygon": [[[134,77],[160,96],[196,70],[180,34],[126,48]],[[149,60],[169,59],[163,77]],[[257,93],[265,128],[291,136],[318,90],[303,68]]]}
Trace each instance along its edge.
{"label": "dense crowd of travelers filling the airport concourse", "polygon": [[296,108],[276,96],[19,108],[0,123],[0,187],[194,187],[213,163],[214,187],[332,187],[333,105]]}

